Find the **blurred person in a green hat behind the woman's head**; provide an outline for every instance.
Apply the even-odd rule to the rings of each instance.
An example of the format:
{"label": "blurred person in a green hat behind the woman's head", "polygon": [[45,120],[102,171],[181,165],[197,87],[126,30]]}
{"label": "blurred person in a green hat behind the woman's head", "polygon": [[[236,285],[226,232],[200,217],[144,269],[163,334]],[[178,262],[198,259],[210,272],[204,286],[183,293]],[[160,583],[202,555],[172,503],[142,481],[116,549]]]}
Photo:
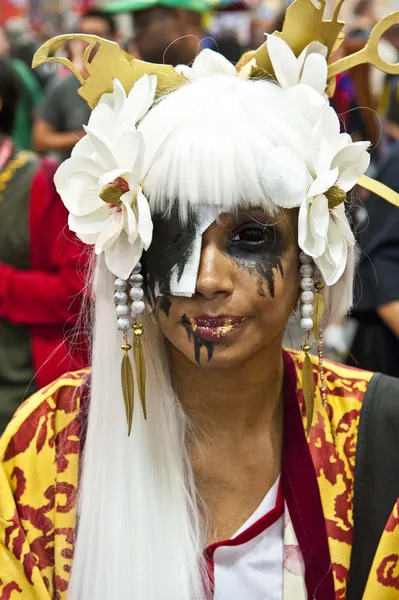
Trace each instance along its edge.
{"label": "blurred person in a green hat behind the woman's head", "polygon": [[207,8],[207,2],[202,0],[150,0],[140,3],[122,0],[109,10],[132,13],[134,37],[130,51],[137,58],[176,66],[190,64],[205,47],[202,13]]}

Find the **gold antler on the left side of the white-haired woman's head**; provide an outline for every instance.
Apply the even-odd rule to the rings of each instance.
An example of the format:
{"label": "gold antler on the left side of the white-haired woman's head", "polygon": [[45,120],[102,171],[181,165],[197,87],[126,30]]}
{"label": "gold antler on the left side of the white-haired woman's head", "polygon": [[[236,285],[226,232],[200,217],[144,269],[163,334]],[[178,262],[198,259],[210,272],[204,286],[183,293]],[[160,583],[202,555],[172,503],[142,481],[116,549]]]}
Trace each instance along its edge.
{"label": "gold antler on the left side of the white-haired woman's head", "polygon": [[[76,66],[67,58],[54,56],[71,40],[80,40],[88,44],[83,66],[87,74],[82,75]],[[91,58],[93,50],[97,52]],[[113,80],[119,79],[128,94],[133,85],[146,73],[157,76],[157,94],[170,89],[176,89],[187,82],[183,75],[178,74],[170,65],[156,65],[138,60],[121,50],[115,42],[103,40],[96,35],[70,34],[58,35],[39,48],[33,57],[32,66],[38,67],[44,63],[59,62],[65,65],[79,80],[82,87],[79,94],[86,100],[90,108],[94,108],[101,96],[114,89]]]}

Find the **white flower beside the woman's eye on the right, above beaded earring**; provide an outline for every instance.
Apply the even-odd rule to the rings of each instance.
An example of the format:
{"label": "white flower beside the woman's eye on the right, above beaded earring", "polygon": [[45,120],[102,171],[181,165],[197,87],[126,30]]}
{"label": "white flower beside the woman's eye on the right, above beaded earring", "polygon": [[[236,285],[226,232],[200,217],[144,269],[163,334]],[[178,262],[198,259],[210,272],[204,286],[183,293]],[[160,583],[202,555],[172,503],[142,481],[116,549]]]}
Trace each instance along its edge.
{"label": "white flower beside the woman's eye on the right, above beaded earring", "polygon": [[[312,132],[311,185],[306,183],[302,192],[296,188],[296,200],[293,194],[272,197],[282,208],[299,206],[298,245],[313,257],[327,285],[341,277],[348,248],[355,243],[343,202],[369,165],[369,145],[353,143],[348,134],[340,133],[334,109],[326,107]],[[295,160],[299,164],[299,159],[292,157],[291,171]],[[296,170],[301,173],[299,166]],[[298,176],[297,181],[306,180]]]}

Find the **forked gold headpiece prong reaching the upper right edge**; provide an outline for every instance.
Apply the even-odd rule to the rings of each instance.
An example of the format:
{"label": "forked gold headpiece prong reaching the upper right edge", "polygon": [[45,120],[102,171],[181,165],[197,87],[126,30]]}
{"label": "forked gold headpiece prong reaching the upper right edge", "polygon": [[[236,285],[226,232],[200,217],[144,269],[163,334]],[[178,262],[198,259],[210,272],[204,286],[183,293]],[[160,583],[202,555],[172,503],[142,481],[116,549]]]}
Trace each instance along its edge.
{"label": "forked gold headpiece prong reaching the upper right edge", "polygon": [[399,75],[399,63],[387,63],[380,57],[378,52],[378,44],[381,37],[390,27],[392,27],[392,25],[397,25],[398,23],[399,11],[386,15],[372,29],[369,40],[362,50],[359,50],[359,52],[351,54],[350,56],[346,56],[345,58],[341,58],[341,60],[338,60],[329,66],[329,78],[335,77],[339,73],[343,73],[343,71],[347,71],[364,63],[369,63],[384,73]]}

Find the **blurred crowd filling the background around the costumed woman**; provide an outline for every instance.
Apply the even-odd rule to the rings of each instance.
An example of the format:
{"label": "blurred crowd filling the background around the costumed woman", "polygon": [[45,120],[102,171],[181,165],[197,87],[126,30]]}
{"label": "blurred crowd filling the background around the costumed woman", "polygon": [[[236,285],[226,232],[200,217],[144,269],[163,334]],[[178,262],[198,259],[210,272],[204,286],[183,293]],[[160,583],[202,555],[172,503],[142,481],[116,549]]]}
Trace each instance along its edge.
{"label": "blurred crowd filling the background around the costumed woman", "polygon": [[[63,31],[46,22],[0,26],[0,432],[30,393],[89,360],[78,326],[81,304],[90,302],[89,257],[68,230],[53,175],[84,135],[90,109],[65,67],[31,69],[34,52],[52,35],[76,31],[149,62],[189,64],[209,47],[235,63],[265,33],[281,30],[285,11],[240,1],[210,10],[201,0],[115,7],[87,10]],[[335,59],[362,49],[376,22],[372,0],[360,0]],[[77,40],[65,49],[80,71],[83,52]],[[379,52],[399,61],[399,25],[381,38]],[[399,191],[399,76],[360,65],[338,76],[331,101],[342,128],[371,141],[371,174]],[[326,330],[326,354],[399,376],[399,208],[357,189],[349,210],[360,249],[355,305],[348,320]]]}

